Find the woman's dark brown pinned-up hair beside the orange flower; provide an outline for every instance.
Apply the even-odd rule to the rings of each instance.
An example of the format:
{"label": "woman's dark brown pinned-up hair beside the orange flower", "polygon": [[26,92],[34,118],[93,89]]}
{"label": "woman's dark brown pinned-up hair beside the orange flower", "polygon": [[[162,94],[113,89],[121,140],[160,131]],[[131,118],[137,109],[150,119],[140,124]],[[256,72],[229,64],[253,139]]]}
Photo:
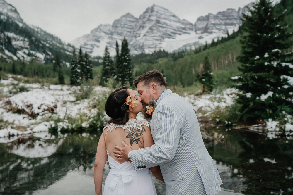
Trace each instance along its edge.
{"label": "woman's dark brown pinned-up hair beside the orange flower", "polygon": [[[130,95],[128,93],[128,86],[120,87],[119,89],[115,89],[113,91],[105,104],[106,114],[111,118],[106,124],[108,123],[115,123],[118,125],[123,125],[128,122],[128,112],[129,107],[128,105],[122,106],[126,98]],[[122,108],[121,108],[122,106]]]}

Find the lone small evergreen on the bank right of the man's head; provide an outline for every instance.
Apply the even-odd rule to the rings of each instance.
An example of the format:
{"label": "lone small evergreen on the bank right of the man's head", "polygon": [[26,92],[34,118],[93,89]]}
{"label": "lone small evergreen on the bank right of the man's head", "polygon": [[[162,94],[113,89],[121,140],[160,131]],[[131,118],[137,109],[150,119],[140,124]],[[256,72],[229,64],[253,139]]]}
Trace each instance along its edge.
{"label": "lone small evergreen on the bank right of the man's head", "polygon": [[207,56],[205,56],[203,61],[203,66],[198,75],[198,81],[203,84],[201,94],[205,93],[205,91],[211,92],[213,90],[213,73]]}

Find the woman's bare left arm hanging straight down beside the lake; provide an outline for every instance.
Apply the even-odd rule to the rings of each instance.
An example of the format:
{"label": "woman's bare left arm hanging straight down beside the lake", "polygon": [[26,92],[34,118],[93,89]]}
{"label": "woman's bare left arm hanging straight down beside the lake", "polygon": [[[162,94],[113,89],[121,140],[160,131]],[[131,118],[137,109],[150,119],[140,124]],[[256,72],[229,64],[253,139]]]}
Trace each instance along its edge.
{"label": "woman's bare left arm hanging straight down beside the lake", "polygon": [[106,151],[105,138],[103,134],[101,135],[99,139],[95,167],[94,167],[94,181],[95,181],[96,195],[102,194],[103,170],[108,158],[107,151]]}

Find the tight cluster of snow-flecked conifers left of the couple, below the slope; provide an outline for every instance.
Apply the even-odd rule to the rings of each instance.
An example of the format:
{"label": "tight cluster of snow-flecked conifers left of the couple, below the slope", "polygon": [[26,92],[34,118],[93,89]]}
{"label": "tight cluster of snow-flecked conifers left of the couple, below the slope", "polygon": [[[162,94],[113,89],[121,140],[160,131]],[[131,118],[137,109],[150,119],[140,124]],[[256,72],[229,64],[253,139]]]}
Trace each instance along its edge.
{"label": "tight cluster of snow-flecked conifers left of the couple, below the slope", "polygon": [[80,47],[77,58],[74,48],[70,64],[70,84],[80,85],[87,82],[88,79],[93,79],[93,65],[90,56],[86,52],[83,54]]}

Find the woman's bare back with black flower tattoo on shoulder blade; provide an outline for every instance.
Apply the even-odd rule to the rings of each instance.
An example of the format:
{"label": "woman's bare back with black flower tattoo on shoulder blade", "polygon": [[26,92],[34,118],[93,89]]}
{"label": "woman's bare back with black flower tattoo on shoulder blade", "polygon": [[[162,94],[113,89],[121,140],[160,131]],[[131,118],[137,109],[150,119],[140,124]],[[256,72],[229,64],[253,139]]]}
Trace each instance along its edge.
{"label": "woman's bare back with black flower tattoo on shoulder blade", "polygon": [[146,125],[140,125],[140,128],[130,127],[130,131],[123,129],[122,127],[116,127],[115,129],[108,130],[105,128],[103,135],[106,143],[106,148],[109,155],[118,163],[122,164],[123,161],[118,161],[113,154],[113,150],[116,150],[114,146],[123,147],[121,144],[124,141],[127,145],[131,147],[132,150],[137,150],[139,148],[144,148],[143,136],[146,131],[150,132],[150,129]]}

